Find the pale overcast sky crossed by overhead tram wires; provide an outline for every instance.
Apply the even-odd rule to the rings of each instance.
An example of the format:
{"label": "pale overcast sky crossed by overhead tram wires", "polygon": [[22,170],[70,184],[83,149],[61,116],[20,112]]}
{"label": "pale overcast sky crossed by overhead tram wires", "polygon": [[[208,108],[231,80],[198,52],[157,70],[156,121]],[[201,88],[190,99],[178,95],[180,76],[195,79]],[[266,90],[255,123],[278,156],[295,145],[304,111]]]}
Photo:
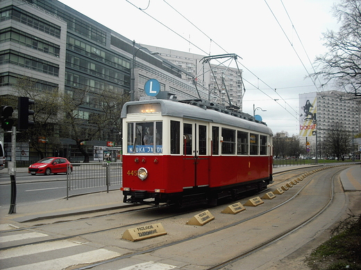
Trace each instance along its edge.
{"label": "pale overcast sky crossed by overhead tram wires", "polygon": [[239,55],[243,111],[267,110],[256,114],[289,136],[299,134],[299,93],[322,91],[307,78],[310,62],[326,53],[322,33],[339,27],[332,16],[339,0],[60,1],[139,44]]}

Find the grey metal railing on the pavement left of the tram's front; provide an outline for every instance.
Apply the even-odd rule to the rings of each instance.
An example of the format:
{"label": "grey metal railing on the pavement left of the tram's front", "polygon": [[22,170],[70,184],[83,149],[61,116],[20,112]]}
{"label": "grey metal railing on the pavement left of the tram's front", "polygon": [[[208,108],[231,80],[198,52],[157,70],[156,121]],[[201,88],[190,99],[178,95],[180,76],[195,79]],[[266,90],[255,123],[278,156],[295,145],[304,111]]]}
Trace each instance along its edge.
{"label": "grey metal railing on the pavement left of the tram's front", "polygon": [[72,163],[68,166],[67,199],[69,190],[121,185],[121,163]]}

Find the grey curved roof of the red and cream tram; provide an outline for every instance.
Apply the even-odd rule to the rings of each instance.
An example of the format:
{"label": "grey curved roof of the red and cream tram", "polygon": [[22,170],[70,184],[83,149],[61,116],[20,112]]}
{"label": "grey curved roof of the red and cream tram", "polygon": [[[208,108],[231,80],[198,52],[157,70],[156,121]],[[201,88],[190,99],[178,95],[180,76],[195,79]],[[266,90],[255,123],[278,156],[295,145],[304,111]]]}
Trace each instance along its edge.
{"label": "grey curved roof of the red and cream tram", "polygon": [[273,134],[271,129],[265,123],[260,123],[252,116],[248,119],[243,118],[241,115],[235,116],[227,114],[216,109],[211,109],[202,105],[187,104],[181,101],[172,100],[140,100],[126,102],[121,110],[121,118],[126,118],[128,107],[132,105],[146,105],[146,104],[160,104],[162,116],[174,116],[179,118],[188,118],[195,120],[202,120],[206,122],[219,123],[231,125],[233,127],[241,127],[244,129],[251,129],[255,132],[262,132],[265,134]]}

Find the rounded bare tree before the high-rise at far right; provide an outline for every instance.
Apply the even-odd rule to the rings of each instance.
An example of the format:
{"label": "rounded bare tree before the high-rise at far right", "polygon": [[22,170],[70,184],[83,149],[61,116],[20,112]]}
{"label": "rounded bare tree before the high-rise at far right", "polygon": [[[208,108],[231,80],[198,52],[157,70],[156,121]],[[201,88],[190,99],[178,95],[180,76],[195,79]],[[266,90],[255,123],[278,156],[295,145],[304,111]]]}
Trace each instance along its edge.
{"label": "rounded bare tree before the high-rise at far right", "polygon": [[326,145],[328,151],[337,156],[338,160],[344,161],[346,154],[350,154],[352,151],[351,141],[351,133],[339,122],[335,122],[328,130]]}

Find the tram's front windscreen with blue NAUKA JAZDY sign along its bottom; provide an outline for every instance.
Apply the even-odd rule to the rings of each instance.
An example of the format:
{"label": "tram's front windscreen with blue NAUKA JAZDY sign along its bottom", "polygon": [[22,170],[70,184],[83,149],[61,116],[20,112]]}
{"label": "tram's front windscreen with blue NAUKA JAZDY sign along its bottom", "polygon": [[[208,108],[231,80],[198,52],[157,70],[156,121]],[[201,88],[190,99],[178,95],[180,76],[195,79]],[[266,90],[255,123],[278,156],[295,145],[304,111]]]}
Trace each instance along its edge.
{"label": "tram's front windscreen with blue NAUKA JAZDY sign along its bottom", "polygon": [[162,153],[162,122],[128,123],[128,153]]}

